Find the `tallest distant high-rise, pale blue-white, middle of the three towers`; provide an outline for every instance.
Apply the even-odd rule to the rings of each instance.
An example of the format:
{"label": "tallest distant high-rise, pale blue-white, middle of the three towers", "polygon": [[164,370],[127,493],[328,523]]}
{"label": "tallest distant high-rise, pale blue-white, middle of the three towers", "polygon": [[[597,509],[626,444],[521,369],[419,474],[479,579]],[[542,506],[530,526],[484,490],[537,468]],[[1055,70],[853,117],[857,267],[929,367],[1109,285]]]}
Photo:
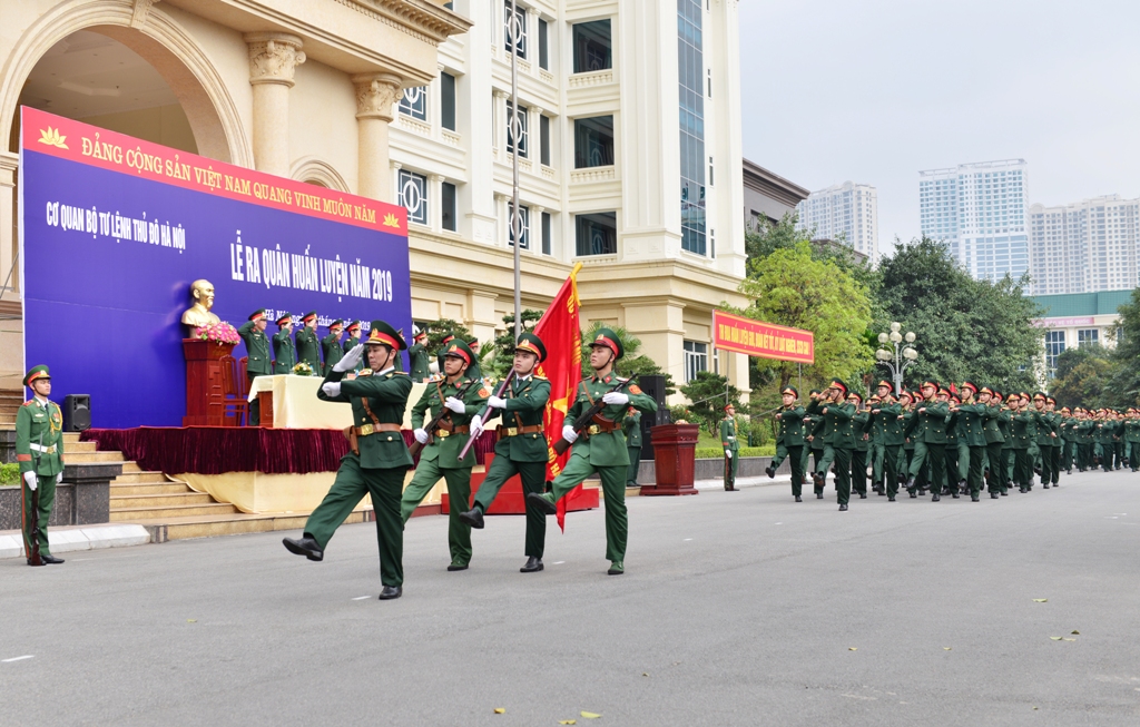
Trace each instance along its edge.
{"label": "tallest distant high-rise, pale blue-white, middle of the three towers", "polygon": [[919,172],[922,234],[950,245],[977,279],[1019,278],[1029,269],[1025,160]]}

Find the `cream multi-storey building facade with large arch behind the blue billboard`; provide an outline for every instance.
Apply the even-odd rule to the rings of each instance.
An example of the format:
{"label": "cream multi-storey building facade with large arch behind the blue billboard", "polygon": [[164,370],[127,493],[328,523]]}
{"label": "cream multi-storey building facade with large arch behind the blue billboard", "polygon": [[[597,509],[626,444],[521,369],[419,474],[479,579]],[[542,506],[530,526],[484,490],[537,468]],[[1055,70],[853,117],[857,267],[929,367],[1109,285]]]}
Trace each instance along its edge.
{"label": "cream multi-storey building facade with large arch behind the blue billboard", "polygon": [[[0,130],[11,140],[0,154],[0,275],[17,254],[23,103],[402,204],[414,319],[451,318],[481,340],[513,310],[515,243],[527,308],[545,308],[581,262],[584,326],[624,326],[678,382],[715,366],[747,390],[747,357],[710,362],[712,308],[744,303],[738,0],[510,7],[0,0]],[[516,146],[518,235],[507,222]],[[23,371],[18,327],[0,346],[15,385],[0,387]]]}

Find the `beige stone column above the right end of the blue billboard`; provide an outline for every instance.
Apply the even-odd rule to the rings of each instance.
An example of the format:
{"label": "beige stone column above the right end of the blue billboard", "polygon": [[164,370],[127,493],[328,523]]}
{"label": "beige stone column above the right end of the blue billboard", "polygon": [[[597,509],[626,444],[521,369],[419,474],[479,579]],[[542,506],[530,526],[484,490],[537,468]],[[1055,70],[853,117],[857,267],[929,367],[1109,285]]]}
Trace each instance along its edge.
{"label": "beige stone column above the right end of the blue billboard", "polygon": [[392,107],[404,95],[401,79],[392,73],[352,76],[357,92],[357,194],[396,202],[389,170],[388,124]]}

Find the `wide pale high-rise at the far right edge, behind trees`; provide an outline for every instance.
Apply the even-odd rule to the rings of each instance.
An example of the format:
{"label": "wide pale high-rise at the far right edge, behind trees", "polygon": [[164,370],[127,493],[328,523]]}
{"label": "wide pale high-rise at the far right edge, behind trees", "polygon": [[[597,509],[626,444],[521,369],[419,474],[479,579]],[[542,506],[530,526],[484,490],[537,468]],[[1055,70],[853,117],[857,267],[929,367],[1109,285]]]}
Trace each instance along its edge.
{"label": "wide pale high-rise at the far right edge, behind trees", "polygon": [[1029,277],[1034,295],[1140,285],[1140,199],[1110,195],[1029,207]]}

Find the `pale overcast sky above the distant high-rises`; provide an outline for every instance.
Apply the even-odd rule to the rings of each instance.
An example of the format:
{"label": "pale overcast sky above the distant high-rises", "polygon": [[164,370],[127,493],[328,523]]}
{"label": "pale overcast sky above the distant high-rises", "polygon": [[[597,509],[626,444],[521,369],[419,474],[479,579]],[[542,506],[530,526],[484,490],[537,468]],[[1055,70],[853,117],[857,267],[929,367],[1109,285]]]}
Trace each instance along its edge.
{"label": "pale overcast sky above the distant high-rises", "polygon": [[1029,204],[1140,196],[1140,0],[742,0],[744,156],[811,190],[1024,158]]}

